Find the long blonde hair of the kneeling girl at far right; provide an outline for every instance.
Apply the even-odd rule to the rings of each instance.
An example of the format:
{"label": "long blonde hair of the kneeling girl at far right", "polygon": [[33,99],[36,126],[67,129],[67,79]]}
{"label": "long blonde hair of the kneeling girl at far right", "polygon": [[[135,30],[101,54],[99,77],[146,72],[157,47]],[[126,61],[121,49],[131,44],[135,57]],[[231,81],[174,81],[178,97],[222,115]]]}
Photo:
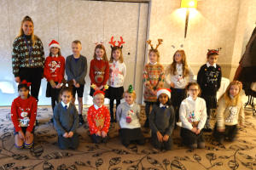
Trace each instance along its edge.
{"label": "long blonde hair of the kneeling girl at far right", "polygon": [[[234,99],[231,99],[231,97],[230,97],[231,86],[238,86],[238,88],[239,88],[239,93],[236,96],[234,96]],[[226,89],[225,93],[219,99],[224,98],[226,106],[231,106],[231,105],[235,106],[241,102],[241,96],[240,96],[241,89],[242,89],[241,82],[239,82],[239,81],[230,82],[230,85]]]}

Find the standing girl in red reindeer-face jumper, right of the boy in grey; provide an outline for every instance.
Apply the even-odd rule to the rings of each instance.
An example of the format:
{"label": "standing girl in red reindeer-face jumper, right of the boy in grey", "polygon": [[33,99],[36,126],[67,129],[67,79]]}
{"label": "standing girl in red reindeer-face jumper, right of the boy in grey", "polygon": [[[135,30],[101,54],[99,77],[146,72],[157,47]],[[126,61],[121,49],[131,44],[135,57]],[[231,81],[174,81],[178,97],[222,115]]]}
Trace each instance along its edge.
{"label": "standing girl in red reindeer-face jumper, right of the boy in grey", "polygon": [[106,49],[102,44],[97,44],[93,59],[90,61],[90,96],[97,90],[102,90],[109,77],[109,65]]}

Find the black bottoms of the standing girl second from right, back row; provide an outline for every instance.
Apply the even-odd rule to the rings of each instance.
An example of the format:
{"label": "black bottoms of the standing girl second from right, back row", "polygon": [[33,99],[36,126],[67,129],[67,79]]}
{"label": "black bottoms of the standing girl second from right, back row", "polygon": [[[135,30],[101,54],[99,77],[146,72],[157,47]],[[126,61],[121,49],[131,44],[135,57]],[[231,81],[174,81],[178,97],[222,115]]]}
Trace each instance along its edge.
{"label": "black bottoms of the standing girl second from right, back row", "polygon": [[175,111],[175,121],[178,122],[179,120],[179,107],[183,99],[186,98],[186,90],[182,88],[171,88],[172,90],[172,106]]}

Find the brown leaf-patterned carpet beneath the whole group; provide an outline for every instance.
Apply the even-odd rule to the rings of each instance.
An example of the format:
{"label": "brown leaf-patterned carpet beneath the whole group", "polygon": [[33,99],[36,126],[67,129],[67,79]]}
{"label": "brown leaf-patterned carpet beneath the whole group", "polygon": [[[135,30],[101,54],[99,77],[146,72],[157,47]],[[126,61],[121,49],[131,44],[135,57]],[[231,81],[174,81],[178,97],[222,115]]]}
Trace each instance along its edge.
{"label": "brown leaf-patterned carpet beneath the whole group", "polygon": [[[87,108],[84,108],[86,112]],[[174,150],[154,150],[149,143],[133,144],[125,148],[120,144],[113,123],[108,144],[91,144],[88,127],[79,127],[78,150],[59,150],[57,134],[49,118],[49,107],[38,108],[39,126],[35,129],[35,144],[30,150],[14,147],[13,125],[9,108],[0,108],[0,170],[6,169],[102,169],[102,170],[189,170],[189,169],[256,169],[256,118],[246,112],[245,127],[239,130],[233,143],[217,144],[211,133],[205,133],[205,150],[188,150],[180,144],[179,128],[174,131]],[[143,120],[144,120],[144,111]],[[214,122],[212,122],[214,123]],[[147,132],[147,130],[143,129]],[[149,134],[145,133],[148,137]]]}

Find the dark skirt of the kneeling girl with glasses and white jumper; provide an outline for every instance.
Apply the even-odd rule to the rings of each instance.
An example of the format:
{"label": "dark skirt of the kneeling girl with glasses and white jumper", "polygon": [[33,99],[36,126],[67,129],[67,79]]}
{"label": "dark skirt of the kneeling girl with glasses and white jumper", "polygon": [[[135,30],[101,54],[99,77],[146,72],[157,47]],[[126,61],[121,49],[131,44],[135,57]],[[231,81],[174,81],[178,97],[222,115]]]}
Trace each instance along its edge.
{"label": "dark skirt of the kneeling girl with glasses and white jumper", "polygon": [[181,128],[180,136],[182,137],[183,144],[191,145],[191,144],[199,144],[201,142],[205,142],[203,138],[203,132],[199,134],[195,134],[187,128]]}

